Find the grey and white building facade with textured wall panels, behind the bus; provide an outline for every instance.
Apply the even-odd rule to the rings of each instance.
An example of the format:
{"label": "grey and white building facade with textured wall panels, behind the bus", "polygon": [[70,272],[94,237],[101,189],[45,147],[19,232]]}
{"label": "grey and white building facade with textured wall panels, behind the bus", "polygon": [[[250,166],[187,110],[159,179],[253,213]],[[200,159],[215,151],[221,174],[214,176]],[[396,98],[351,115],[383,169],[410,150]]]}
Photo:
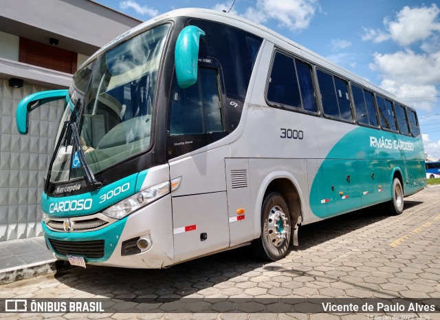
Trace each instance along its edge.
{"label": "grey and white building facade with textured wall panels, behind the bus", "polygon": [[[141,21],[90,0],[1,0],[0,5],[0,242],[42,235],[41,193],[63,103],[32,111],[30,133],[15,123],[19,101],[70,86],[72,74],[19,62],[20,36],[78,52],[78,67],[99,47]],[[42,4],[43,3],[43,4]],[[23,10],[26,8],[26,10]],[[23,87],[9,87],[10,78]]]}

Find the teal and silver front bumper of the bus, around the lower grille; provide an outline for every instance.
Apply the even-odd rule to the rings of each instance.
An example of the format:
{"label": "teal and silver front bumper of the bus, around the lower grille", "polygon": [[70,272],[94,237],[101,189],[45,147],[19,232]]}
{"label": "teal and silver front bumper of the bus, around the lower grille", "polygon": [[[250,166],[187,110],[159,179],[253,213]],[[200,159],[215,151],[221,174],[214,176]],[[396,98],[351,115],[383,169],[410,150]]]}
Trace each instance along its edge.
{"label": "teal and silver front bumper of the bus, around the lower grille", "polygon": [[[56,232],[42,224],[47,246],[58,259],[79,255],[86,264],[124,268],[161,268],[174,261],[170,195],[96,231]],[[122,256],[122,242],[144,235],[151,238],[151,248]]]}

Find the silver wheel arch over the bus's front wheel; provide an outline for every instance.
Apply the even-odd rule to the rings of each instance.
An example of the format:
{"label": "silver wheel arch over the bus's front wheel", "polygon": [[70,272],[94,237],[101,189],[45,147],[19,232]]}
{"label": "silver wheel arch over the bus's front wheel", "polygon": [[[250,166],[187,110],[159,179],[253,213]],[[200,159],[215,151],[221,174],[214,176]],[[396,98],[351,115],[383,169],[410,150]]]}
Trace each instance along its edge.
{"label": "silver wheel arch over the bus's front wheel", "polygon": [[255,209],[254,209],[254,239],[261,235],[261,207],[266,196],[272,192],[280,193],[287,207],[289,208],[289,214],[294,224],[298,222],[300,218],[304,221],[304,197],[300,189],[298,181],[292,175],[292,173],[286,171],[276,171],[267,175],[260,185],[260,189],[256,196]]}

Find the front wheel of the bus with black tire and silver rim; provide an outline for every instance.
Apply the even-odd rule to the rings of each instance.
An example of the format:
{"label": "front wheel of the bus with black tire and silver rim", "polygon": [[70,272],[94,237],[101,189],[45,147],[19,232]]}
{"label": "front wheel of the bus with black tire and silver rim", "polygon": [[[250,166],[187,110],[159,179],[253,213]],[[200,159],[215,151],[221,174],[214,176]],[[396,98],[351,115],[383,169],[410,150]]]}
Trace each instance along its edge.
{"label": "front wheel of the bus with black tire and silver rim", "polygon": [[283,196],[270,193],[261,208],[261,236],[252,242],[254,253],[270,261],[285,257],[292,237],[291,230],[289,208]]}

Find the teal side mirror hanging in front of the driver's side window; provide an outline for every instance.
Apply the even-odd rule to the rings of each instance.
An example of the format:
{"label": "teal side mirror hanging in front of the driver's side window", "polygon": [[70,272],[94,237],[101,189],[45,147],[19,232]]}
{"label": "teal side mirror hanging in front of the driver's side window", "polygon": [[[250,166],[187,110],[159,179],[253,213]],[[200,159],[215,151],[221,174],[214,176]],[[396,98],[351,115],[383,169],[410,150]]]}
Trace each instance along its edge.
{"label": "teal side mirror hanging in front of the driver's side window", "polygon": [[205,32],[195,25],[188,25],[177,36],[174,51],[177,85],[186,89],[197,82],[199,42]]}

